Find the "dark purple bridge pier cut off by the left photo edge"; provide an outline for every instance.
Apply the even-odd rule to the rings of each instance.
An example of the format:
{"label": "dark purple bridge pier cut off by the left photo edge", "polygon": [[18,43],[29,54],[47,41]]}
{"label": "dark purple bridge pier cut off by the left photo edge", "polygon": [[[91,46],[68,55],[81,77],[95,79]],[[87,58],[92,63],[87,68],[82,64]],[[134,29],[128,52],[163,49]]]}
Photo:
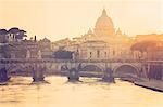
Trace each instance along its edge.
{"label": "dark purple bridge pier cut off by the left photo edge", "polygon": [[0,69],[0,83],[8,82],[10,77],[8,77],[8,71],[5,68]]}

